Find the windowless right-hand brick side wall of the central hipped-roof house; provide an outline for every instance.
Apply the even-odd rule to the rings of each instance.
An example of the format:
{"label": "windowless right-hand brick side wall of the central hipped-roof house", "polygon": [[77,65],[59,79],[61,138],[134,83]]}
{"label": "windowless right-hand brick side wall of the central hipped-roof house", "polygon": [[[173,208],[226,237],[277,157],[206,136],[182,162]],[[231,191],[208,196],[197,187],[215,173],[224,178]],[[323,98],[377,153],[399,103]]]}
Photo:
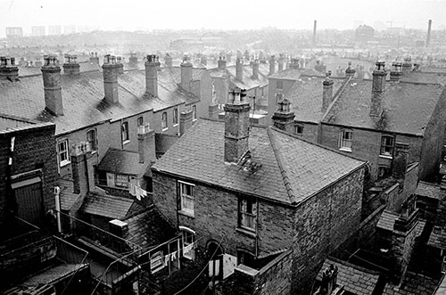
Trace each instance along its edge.
{"label": "windowless right-hand brick side wall of the central hipped-roof house", "polygon": [[359,229],[364,168],[327,187],[296,211],[293,292],[310,291],[330,252]]}

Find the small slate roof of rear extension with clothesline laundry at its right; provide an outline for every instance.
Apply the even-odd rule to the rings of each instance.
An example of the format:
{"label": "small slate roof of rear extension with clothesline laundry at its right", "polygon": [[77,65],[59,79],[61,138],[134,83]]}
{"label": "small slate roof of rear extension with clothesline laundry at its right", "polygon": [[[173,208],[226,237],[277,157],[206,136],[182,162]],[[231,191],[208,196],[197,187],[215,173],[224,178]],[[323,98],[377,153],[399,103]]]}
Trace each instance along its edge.
{"label": "small slate roof of rear extension with clothesline laundry at its right", "polygon": [[140,163],[138,152],[110,148],[103,156],[98,169],[117,174],[142,176],[150,164],[150,161]]}

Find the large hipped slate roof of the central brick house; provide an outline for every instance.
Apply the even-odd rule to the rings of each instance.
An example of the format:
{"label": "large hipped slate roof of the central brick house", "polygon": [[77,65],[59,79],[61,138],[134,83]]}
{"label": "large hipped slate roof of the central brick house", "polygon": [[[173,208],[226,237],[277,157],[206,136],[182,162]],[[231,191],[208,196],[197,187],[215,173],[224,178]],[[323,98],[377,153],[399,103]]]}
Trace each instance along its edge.
{"label": "large hipped slate roof of the central brick house", "polygon": [[201,120],[183,135],[153,171],[184,176],[232,191],[284,203],[303,201],[364,165],[364,162],[307,143],[271,127],[252,127],[255,172],[224,161],[224,123]]}

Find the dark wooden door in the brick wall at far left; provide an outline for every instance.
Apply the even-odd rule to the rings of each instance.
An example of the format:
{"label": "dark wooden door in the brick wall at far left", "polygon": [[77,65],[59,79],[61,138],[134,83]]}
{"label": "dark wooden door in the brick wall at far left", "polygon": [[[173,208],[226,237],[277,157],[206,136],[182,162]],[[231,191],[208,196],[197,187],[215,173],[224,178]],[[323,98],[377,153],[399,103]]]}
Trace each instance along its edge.
{"label": "dark wooden door in the brick wall at far left", "polygon": [[17,201],[18,217],[33,225],[41,223],[43,217],[42,183],[40,181],[34,184],[25,183],[23,186],[12,184],[12,188],[14,188]]}

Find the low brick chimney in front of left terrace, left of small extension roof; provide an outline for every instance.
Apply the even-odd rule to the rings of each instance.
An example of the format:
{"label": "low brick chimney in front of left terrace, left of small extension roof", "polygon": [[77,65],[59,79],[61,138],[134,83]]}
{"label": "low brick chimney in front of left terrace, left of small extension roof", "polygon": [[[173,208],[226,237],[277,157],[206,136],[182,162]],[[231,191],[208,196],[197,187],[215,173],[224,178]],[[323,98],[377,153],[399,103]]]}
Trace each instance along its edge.
{"label": "low brick chimney in front of left terrace, left of small extension roof", "polygon": [[76,143],[71,147],[71,168],[74,193],[85,196],[95,190],[93,155],[87,142]]}

